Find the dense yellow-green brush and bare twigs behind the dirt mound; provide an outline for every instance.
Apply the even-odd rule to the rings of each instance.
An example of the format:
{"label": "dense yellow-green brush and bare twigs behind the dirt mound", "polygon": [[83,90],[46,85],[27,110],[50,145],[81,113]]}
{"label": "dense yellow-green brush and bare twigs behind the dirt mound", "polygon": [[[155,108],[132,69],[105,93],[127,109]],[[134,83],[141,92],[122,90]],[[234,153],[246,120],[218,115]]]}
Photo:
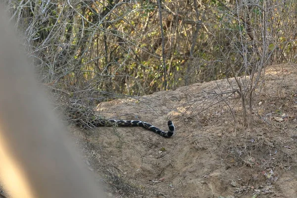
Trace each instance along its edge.
{"label": "dense yellow-green brush and bare twigs behind the dirt mound", "polygon": [[230,68],[244,74],[261,61],[296,61],[293,0],[256,0],[251,5],[202,0],[198,7],[162,1],[166,73],[155,2],[71,2],[12,0],[9,5],[38,54],[42,80],[56,80],[64,91],[86,86],[144,95],[162,90],[165,75],[171,89],[231,77]]}

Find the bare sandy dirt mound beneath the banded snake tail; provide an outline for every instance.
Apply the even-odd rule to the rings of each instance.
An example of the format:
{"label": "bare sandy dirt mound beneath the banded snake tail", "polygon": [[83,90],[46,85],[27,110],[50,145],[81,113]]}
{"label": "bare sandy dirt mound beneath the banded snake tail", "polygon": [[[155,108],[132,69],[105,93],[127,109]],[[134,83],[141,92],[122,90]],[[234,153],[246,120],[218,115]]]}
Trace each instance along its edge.
{"label": "bare sandy dirt mound beneath the banded snake tail", "polygon": [[[143,120],[141,127],[72,128],[90,169],[110,197],[292,198],[297,195],[297,65],[266,69],[251,124],[243,126],[234,79],[181,87],[97,107],[103,118]],[[224,93],[224,94],[222,94]]]}

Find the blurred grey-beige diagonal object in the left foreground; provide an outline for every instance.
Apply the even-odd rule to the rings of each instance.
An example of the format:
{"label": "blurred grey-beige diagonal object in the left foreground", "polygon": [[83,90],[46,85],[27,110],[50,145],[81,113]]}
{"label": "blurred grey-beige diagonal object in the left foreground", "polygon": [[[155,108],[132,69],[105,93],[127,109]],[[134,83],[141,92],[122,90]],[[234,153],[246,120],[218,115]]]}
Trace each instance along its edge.
{"label": "blurred grey-beige diagonal object in the left foreground", "polygon": [[12,198],[103,198],[0,4],[0,177]]}

